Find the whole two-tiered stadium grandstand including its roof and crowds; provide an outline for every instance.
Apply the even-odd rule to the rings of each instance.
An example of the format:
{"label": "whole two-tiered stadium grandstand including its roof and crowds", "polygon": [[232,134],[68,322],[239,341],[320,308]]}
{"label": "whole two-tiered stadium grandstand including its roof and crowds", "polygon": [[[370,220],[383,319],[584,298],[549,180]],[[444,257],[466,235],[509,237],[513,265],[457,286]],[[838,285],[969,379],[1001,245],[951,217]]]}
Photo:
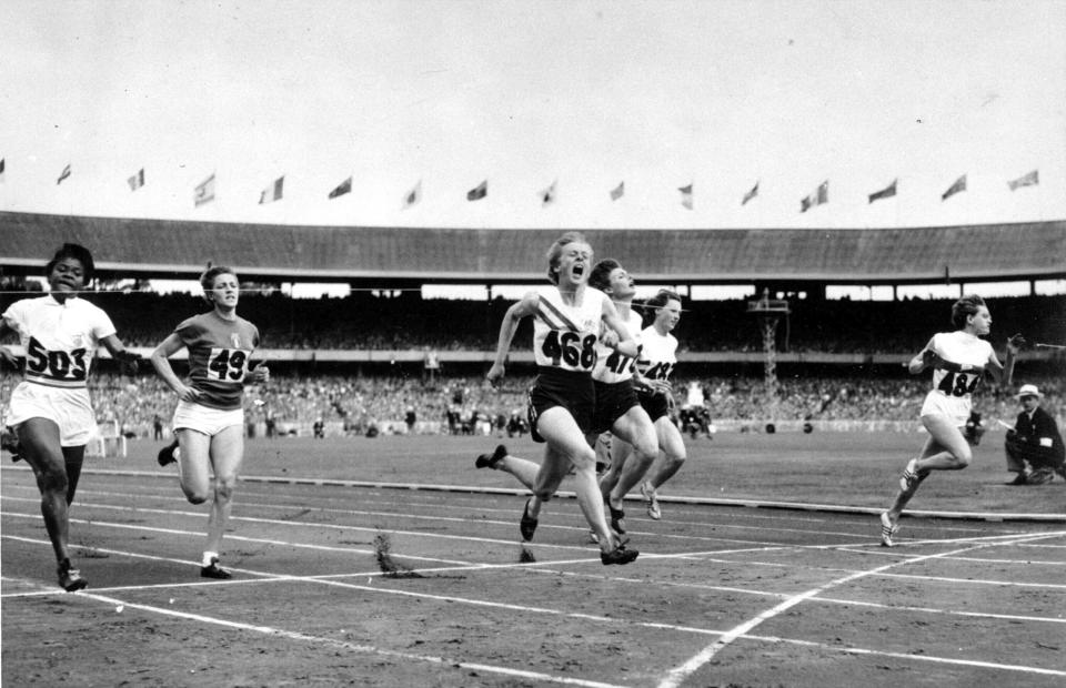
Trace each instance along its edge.
{"label": "whole two-tiered stadium grandstand including its roof and crowds", "polygon": [[[142,355],[175,322],[203,310],[198,294],[141,291],[151,280],[190,280],[210,262],[263,286],[242,296],[241,313],[263,333],[261,354],[275,371],[259,391],[284,426],[306,432],[323,419],[332,432],[402,427],[413,408],[428,432],[473,432],[505,423],[524,406],[533,373],[527,322],[502,391],[481,384],[510,301],[497,285],[543,283],[543,252],[557,230],[454,230],[231,224],[0,212],[0,307],[29,289],[47,256],[64,242],[90,246],[102,285],[90,299]],[[776,333],[784,422],[849,423],[876,417],[911,427],[924,392],[901,363],[946,326],[949,299],[903,299],[903,285],[1026,282],[1027,294],[988,299],[992,340],[1020,332],[1030,343],[1019,374],[1049,392],[1062,413],[1066,295],[1037,285],[1066,279],[1066,221],[913,229],[590,230],[597,256],[623,259],[646,284],[688,293],[743,285],[787,299]],[[292,299],[285,283],[343,283],[344,297]],[[132,284],[132,286],[130,286]],[[481,284],[482,302],[425,299],[424,285]],[[828,299],[834,285],[892,287],[891,301]],[[112,289],[113,286],[113,289]],[[956,292],[956,293],[958,293]],[[762,413],[766,352],[746,299],[686,300],[678,396],[706,391],[720,423],[752,423]],[[441,364],[425,367],[432,356]],[[164,388],[148,375],[123,380],[101,363],[98,412],[125,432],[147,435],[170,414]],[[4,392],[13,384],[4,376]],[[842,381],[845,381],[842,384]],[[832,394],[827,391],[832,389]],[[841,392],[843,391],[843,392]],[[826,398],[828,396],[828,398]],[[837,403],[839,402],[839,403]],[[989,397],[1006,411],[1010,399]]]}

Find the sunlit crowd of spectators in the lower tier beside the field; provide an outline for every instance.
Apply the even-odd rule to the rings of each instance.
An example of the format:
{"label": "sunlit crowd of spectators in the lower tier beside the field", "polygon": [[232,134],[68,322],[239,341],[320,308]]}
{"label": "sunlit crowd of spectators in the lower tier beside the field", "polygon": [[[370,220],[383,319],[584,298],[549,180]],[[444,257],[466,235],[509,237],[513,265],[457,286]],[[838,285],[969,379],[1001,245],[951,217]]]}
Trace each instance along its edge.
{"label": "sunlit crowd of spectators in the lower tier beside the field", "polygon": [[[18,376],[0,380],[0,396],[7,396]],[[1026,377],[1046,394],[1044,407],[1059,413],[1066,383],[1060,376]],[[430,422],[440,432],[471,432],[479,424],[493,427],[513,416],[524,418],[525,391],[532,377],[510,377],[493,388],[480,376],[449,376],[435,381],[404,376],[275,374],[271,382],[250,387],[249,422],[268,416],[279,428],[310,427],[315,421],[365,434],[372,426],[404,423],[411,414]],[[762,421],[766,396],[762,377],[680,378],[674,382],[677,408],[686,405],[686,389],[698,385],[714,421]],[[904,421],[917,425],[918,409],[928,389],[924,377],[784,377],[778,381],[776,419],[785,421]],[[150,437],[159,419],[169,425],[173,394],[154,375],[134,378],[98,373],[90,385],[97,416],[122,432]],[[1008,391],[1009,392],[1009,391]],[[995,387],[979,392],[975,408],[988,418],[1013,418],[1017,402]]]}

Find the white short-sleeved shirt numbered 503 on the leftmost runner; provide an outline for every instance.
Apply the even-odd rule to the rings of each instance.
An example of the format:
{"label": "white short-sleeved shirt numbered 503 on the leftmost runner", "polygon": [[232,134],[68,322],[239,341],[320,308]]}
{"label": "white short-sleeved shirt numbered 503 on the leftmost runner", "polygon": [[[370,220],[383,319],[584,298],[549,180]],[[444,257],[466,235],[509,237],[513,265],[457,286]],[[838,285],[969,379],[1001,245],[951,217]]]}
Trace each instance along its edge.
{"label": "white short-sleeved shirt numbered 503 on the leftmost runner", "polygon": [[103,310],[78,297],[16,301],[3,320],[26,348],[26,381],[51,387],[84,387],[100,340],[115,333]]}

